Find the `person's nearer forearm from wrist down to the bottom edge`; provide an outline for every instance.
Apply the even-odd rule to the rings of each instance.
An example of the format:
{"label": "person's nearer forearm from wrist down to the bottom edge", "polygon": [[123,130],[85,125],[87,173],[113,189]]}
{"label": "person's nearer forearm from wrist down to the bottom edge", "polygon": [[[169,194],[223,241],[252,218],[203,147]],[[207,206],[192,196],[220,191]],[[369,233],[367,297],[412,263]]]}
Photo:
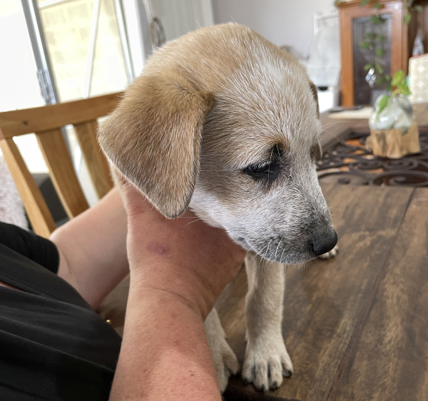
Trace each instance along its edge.
{"label": "person's nearer forearm from wrist down to the bottom edge", "polygon": [[183,298],[138,287],[131,273],[111,401],[220,401],[203,318]]}

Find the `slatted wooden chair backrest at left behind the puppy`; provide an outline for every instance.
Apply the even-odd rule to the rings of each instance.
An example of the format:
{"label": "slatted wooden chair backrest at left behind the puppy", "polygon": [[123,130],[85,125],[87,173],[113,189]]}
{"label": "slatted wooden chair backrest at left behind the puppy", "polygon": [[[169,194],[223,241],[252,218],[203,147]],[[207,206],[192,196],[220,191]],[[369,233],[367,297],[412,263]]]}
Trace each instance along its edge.
{"label": "slatted wooden chair backrest at left behind the puppy", "polygon": [[61,203],[69,218],[88,208],[73,168],[61,127],[72,124],[98,198],[111,188],[108,161],[96,140],[97,118],[111,113],[122,93],[0,113],[0,148],[18,188],[34,231],[49,237],[56,225],[33,176],[14,142],[35,133]]}

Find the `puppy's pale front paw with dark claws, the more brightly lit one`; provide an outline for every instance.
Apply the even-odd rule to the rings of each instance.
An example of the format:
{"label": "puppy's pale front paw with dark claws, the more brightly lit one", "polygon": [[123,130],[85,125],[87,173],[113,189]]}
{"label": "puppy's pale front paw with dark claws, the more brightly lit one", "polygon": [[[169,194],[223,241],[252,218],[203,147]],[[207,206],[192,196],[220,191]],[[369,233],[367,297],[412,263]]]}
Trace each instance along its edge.
{"label": "puppy's pale front paw with dark claws, the more brightly lit one", "polygon": [[292,362],[282,335],[248,339],[245,349],[243,380],[253,382],[258,390],[280,387],[282,377],[292,375]]}

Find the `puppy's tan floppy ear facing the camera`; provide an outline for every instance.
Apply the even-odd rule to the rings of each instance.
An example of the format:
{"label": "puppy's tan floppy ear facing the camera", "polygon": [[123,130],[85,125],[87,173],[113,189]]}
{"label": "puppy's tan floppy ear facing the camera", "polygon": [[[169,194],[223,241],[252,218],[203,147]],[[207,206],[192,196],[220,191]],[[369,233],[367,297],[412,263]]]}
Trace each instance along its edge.
{"label": "puppy's tan floppy ear facing the camera", "polygon": [[166,217],[186,210],[213,96],[178,73],[143,73],[98,131],[107,157]]}

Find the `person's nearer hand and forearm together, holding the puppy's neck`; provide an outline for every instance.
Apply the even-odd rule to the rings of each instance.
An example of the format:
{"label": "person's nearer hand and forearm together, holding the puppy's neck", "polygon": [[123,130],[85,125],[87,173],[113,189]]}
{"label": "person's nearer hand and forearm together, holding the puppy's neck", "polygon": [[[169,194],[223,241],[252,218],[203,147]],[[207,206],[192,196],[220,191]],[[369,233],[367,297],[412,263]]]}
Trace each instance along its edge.
{"label": "person's nearer hand and forearm together, holding the puppy's neck", "polygon": [[203,320],[245,251],[193,213],[167,219],[130,183],[122,191],[131,281],[110,400],[220,401]]}

